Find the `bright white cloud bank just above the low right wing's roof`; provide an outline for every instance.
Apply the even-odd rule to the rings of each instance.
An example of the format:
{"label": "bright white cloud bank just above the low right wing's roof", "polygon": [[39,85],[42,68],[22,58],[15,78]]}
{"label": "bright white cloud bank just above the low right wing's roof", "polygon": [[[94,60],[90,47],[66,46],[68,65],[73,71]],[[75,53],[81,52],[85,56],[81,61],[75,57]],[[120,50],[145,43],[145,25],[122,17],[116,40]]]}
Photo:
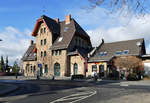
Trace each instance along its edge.
{"label": "bright white cloud bank just above the low right wing's roof", "polygon": [[144,38],[147,53],[150,53],[150,15],[141,16],[139,18],[133,17],[130,22],[122,21],[122,18],[118,20],[120,22],[119,26],[113,26],[107,29],[97,27],[96,29],[88,30],[87,32],[91,37],[93,45],[96,46],[99,43],[95,40],[96,38],[104,38],[105,42]]}

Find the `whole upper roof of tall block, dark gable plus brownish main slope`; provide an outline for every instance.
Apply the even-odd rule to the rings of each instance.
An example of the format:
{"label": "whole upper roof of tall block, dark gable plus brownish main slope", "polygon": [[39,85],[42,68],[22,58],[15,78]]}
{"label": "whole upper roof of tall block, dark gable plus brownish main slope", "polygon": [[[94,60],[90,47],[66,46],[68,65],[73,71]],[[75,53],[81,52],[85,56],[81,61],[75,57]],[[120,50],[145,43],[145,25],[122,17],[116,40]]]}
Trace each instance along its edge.
{"label": "whole upper roof of tall block, dark gable plus brownish main slope", "polygon": [[[37,35],[39,25],[44,22],[46,24],[46,27],[50,31],[52,31],[53,45],[50,48],[53,50],[66,49],[69,46],[75,33],[78,33],[79,35],[87,38],[89,40],[89,43],[91,44],[88,34],[74,19],[70,19],[70,23],[66,24],[65,21],[56,22],[54,19],[43,15],[37,20],[34,30],[32,32],[32,36]],[[62,40],[60,41],[59,38],[62,38]]]}

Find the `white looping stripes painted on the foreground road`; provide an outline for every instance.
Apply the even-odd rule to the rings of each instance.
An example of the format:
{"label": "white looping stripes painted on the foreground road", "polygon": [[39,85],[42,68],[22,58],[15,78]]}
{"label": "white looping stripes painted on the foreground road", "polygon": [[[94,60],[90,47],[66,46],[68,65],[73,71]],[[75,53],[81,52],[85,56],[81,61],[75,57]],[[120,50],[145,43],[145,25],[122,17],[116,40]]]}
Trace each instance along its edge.
{"label": "white looping stripes painted on the foreground road", "polygon": [[61,102],[63,102],[63,103],[64,102],[65,103],[75,103],[75,102],[81,101],[83,99],[86,99],[88,97],[91,97],[91,96],[95,95],[96,93],[97,93],[96,91],[80,92],[80,93],[76,93],[76,94],[62,97],[62,98],[54,100],[50,103],[61,103]]}

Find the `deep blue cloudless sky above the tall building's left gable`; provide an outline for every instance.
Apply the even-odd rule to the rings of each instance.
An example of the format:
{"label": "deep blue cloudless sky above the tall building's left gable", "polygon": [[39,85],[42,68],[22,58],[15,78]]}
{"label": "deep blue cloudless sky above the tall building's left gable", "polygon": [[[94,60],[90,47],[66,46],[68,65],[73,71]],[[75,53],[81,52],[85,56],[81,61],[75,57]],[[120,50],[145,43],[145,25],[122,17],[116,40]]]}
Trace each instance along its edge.
{"label": "deep blue cloudless sky above the tall building's left gable", "polygon": [[[33,29],[35,21],[43,14],[64,19],[71,9],[87,6],[87,0],[2,0],[0,1],[0,27],[13,26],[23,30]],[[45,13],[43,12],[45,10]]]}

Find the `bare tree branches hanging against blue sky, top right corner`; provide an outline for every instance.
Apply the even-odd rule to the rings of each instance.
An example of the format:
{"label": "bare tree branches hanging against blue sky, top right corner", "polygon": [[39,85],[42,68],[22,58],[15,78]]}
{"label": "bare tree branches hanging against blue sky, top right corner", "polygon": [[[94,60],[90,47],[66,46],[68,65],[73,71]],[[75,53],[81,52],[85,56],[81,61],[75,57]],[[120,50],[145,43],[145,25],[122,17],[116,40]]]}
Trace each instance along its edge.
{"label": "bare tree branches hanging against blue sky, top right corner", "polygon": [[150,0],[88,0],[90,8],[97,6],[108,9],[111,13],[123,11],[136,15],[150,13]]}

